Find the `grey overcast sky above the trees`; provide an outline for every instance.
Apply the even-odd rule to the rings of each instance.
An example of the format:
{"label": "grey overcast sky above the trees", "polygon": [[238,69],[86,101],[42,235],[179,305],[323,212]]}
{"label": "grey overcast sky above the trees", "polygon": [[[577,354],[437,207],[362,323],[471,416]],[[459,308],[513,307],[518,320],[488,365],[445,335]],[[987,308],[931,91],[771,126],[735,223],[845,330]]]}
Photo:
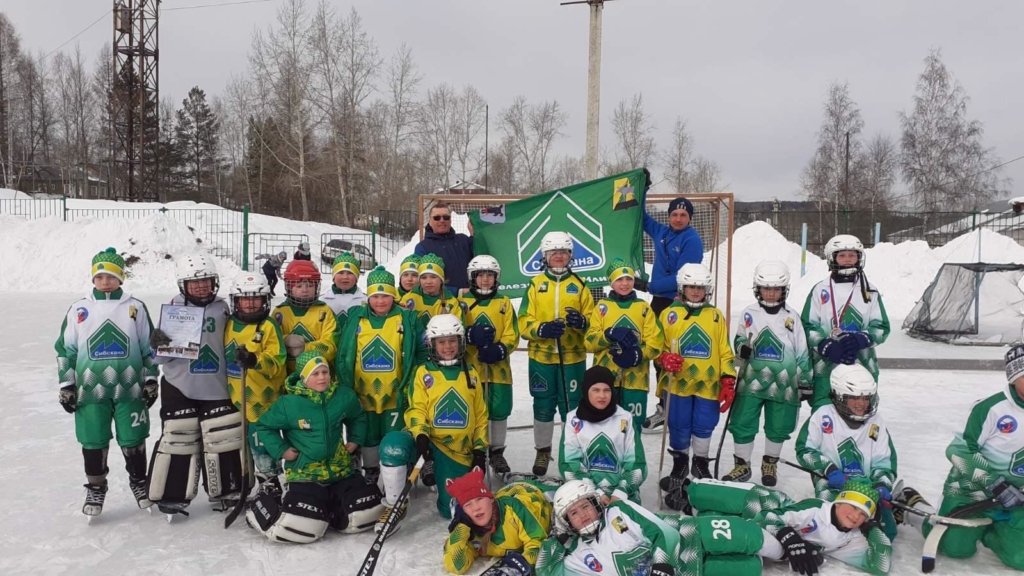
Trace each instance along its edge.
{"label": "grey overcast sky above the trees", "polygon": [[[166,9],[228,0],[164,0]],[[191,86],[222,91],[246,73],[254,28],[270,26],[283,0],[165,11],[163,95]],[[557,99],[569,113],[558,154],[582,156],[586,136],[588,8],[558,0],[352,0],[383,55],[402,42],[425,86],[471,83],[494,119],[516,94]],[[314,2],[309,2],[310,8]],[[842,4],[842,5],[841,5]],[[3,0],[23,46],[49,52],[110,13],[110,0]],[[667,145],[677,116],[697,152],[717,161],[737,200],[797,199],[814,152],[828,83],[848,81],[865,135],[898,138],[923,59],[941,47],[971,96],[969,115],[1004,160],[1024,156],[1024,2],[1020,0],[616,0],[604,10],[601,146],[613,141],[615,104],[643,92]],[[90,59],[111,41],[100,22],[78,40]],[[65,49],[74,46],[74,42]],[[495,139],[495,138],[493,138]],[[656,172],[655,167],[655,172]],[[1024,196],[1024,160],[1007,166]]]}

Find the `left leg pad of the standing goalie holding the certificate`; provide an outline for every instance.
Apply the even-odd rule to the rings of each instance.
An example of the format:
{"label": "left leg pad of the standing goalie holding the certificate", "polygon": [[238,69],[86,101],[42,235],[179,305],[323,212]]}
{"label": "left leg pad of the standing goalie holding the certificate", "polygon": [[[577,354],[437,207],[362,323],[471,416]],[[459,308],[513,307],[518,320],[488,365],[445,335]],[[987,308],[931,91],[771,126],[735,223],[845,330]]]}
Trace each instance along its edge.
{"label": "left leg pad of the standing goalie holding the certificate", "polygon": [[164,421],[164,430],[150,463],[150,500],[187,504],[199,490],[199,418]]}

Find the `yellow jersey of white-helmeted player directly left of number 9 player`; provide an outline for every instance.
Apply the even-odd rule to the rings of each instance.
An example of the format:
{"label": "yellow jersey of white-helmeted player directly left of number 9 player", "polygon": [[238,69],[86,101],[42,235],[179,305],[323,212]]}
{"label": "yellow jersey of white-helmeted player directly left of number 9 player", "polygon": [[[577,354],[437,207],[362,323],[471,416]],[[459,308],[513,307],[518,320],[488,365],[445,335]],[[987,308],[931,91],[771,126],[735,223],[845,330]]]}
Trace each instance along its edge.
{"label": "yellow jersey of white-helmeted player directly left of number 9 player", "polygon": [[481,300],[472,293],[466,293],[459,298],[461,307],[465,311],[465,324],[470,326],[486,325],[495,329],[495,342],[501,342],[508,348],[508,356],[505,360],[495,364],[483,364],[479,360],[479,353],[476,346],[466,346],[466,358],[469,365],[476,369],[476,372],[485,382],[498,384],[512,383],[512,352],[519,345],[519,322],[516,319],[515,308],[508,296],[495,295]]}

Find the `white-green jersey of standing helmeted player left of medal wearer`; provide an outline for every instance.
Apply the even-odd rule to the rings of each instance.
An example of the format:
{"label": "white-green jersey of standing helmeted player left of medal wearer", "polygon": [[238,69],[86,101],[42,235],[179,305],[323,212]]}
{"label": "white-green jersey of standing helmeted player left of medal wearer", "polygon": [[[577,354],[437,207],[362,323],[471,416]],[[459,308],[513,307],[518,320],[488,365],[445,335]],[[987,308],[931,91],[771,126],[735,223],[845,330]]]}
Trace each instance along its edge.
{"label": "white-green jersey of standing helmeted player left of medal wearer", "polygon": [[775,314],[760,304],[746,306],[735,334],[733,349],[737,358],[740,346],[751,346],[737,393],[800,406],[800,386],[811,385],[811,360],[804,325],[797,313],[784,304]]}

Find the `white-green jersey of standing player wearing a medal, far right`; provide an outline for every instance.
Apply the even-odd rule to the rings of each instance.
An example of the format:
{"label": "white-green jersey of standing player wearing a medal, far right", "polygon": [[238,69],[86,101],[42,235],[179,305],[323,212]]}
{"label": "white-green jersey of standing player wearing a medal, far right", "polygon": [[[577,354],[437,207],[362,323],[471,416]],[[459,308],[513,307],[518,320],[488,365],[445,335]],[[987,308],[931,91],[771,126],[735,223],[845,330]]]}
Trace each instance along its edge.
{"label": "white-green jersey of standing player wearing a medal, far right", "polygon": [[[868,284],[867,301],[864,301],[862,289],[863,276],[858,276],[855,282],[834,282],[828,277],[814,285],[801,320],[807,332],[807,345],[811,348],[811,368],[814,378],[827,380],[835,365],[828,359],[818,354],[818,344],[833,336],[834,331],[866,332],[874,346],[889,337],[889,316],[882,303],[882,294],[874,286]],[[859,362],[879,380],[879,360],[874,346],[857,353]]]}

